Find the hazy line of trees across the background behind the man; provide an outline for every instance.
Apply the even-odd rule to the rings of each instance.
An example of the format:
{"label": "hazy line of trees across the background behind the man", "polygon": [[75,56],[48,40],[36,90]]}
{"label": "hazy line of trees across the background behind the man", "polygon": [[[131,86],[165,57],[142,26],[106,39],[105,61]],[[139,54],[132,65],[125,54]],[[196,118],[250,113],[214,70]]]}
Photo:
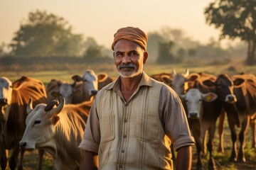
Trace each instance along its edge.
{"label": "hazy line of trees across the background behind the man", "polygon": [[[148,33],[149,60],[169,64],[184,60],[228,61],[246,57],[246,64],[255,64],[255,6],[255,0],[214,0],[205,8],[206,23],[220,30],[219,39],[240,38],[242,42],[238,45],[224,49],[214,38],[202,45],[186,37],[183,30],[164,27]],[[65,18],[36,10],[28,13],[10,44],[0,45],[0,57],[84,57],[97,60],[112,57],[112,50],[99,45],[94,38],[85,40],[82,34],[73,33],[73,27]]]}

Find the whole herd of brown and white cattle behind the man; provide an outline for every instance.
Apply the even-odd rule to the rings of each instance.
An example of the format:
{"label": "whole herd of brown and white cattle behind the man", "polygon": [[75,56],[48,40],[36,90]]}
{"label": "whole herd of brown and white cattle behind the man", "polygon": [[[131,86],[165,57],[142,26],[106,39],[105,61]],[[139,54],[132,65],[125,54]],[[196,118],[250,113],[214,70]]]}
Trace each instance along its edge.
{"label": "whole herd of brown and white cattle behind the man", "polygon": [[[219,119],[219,147],[223,152],[225,115],[233,148],[230,161],[245,162],[245,135],[250,125],[252,147],[256,147],[256,77],[252,74],[215,76],[206,73],[154,74],[153,79],[171,86],[180,96],[187,113],[191,133],[196,140],[197,169],[202,169],[201,154],[210,154],[208,169],[215,169],[213,139]],[[23,169],[25,150],[38,149],[38,169],[43,153],[53,157],[54,169],[79,169],[82,164],[82,140],[94,96],[115,78],[87,70],[72,77],[73,84],[52,79],[45,87],[38,79],[21,77],[11,82],[0,77],[0,164],[6,169]],[[239,137],[236,125],[240,127]],[[208,134],[208,137],[206,137]],[[206,141],[208,139],[208,141]],[[239,152],[237,140],[240,141]],[[8,151],[12,149],[11,156]],[[18,161],[18,155],[20,160]]]}

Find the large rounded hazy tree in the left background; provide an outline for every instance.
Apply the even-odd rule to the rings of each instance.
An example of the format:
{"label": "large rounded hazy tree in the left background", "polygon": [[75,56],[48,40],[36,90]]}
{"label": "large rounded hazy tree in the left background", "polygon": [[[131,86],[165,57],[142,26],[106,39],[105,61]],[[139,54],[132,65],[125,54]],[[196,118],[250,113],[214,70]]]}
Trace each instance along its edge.
{"label": "large rounded hazy tree in the left background", "polygon": [[82,35],[72,30],[64,18],[46,11],[30,12],[14,35],[12,52],[18,57],[81,56]]}

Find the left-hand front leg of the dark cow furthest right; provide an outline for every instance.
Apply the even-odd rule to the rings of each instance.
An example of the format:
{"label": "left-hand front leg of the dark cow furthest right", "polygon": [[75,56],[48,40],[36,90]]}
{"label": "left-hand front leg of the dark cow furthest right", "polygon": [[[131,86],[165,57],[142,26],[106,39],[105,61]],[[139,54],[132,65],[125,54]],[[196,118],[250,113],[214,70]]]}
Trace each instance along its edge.
{"label": "left-hand front leg of the dark cow furthest right", "polygon": [[230,120],[229,118],[228,118],[228,125],[230,127],[231,139],[233,142],[232,153],[230,156],[230,162],[236,162],[238,159],[238,149],[237,149],[238,136],[235,132],[235,123],[232,123],[232,120]]}

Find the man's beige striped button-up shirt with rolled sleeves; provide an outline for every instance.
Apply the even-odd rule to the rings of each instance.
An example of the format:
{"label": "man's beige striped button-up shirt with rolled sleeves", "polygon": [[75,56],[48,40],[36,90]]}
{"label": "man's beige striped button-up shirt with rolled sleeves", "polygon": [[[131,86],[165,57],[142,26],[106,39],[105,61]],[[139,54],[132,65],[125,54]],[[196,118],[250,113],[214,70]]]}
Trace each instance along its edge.
{"label": "man's beige striped button-up shirt with rolled sleeves", "polygon": [[173,169],[171,142],[194,144],[180,99],[145,73],[129,101],[119,86],[98,92],[79,147],[98,153],[100,169]]}

